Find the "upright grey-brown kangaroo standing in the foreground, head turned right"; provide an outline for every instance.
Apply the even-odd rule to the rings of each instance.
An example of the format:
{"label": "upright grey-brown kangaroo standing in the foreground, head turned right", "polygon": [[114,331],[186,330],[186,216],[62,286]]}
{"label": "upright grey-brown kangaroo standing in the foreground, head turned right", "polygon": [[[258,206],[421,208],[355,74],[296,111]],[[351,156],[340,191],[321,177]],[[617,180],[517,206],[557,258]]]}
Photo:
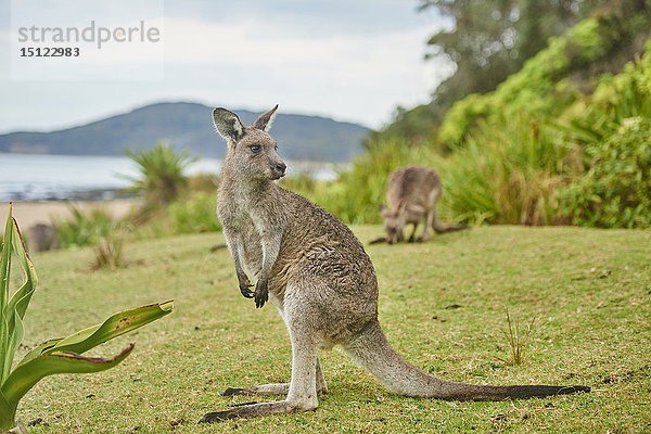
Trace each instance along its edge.
{"label": "upright grey-brown kangaroo standing in the foreground, head turned right", "polygon": [[[319,349],[341,345],[388,390],[442,399],[526,398],[589,392],[586,386],[473,385],[430,375],[405,361],[378,322],[378,280],[369,256],[353,232],[332,214],[278,187],[285,164],[267,132],[278,106],[244,126],[234,113],[215,108],[217,131],[228,152],[217,213],[235,264],[242,295],[263,307],[270,298],[292,344],[290,383],[244,388],[222,395],[280,394],[273,403],[248,403],[205,414],[200,422],[314,410],[327,386]],[[257,282],[252,291],[247,276]]]}

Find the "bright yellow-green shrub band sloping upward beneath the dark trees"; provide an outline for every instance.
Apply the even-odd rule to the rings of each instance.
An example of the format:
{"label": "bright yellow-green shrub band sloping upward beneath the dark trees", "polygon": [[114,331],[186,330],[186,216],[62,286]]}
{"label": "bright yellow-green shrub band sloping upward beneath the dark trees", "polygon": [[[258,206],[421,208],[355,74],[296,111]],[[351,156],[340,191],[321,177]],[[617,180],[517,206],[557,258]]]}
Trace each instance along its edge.
{"label": "bright yellow-green shrub band sloping upward beneath the dark trees", "polygon": [[[631,18],[633,20],[633,18]],[[525,62],[493,92],[471,94],[456,102],[446,113],[438,138],[448,145],[460,143],[485,119],[495,128],[500,117],[526,113],[533,117],[559,116],[580,92],[566,79],[575,69],[598,65],[630,38],[613,16],[588,18],[561,37],[549,39],[548,47]]]}

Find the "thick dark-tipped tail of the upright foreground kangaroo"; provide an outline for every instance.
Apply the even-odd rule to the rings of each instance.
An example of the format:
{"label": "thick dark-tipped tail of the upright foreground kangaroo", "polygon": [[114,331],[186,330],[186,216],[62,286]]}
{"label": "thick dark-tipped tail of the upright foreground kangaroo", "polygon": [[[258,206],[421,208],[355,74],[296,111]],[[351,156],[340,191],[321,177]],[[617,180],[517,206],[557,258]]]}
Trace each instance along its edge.
{"label": "thick dark-tipped tail of the upright foreground kangaroo", "polygon": [[431,375],[409,365],[388,344],[380,323],[369,323],[345,346],[346,353],[390,391],[405,396],[458,400],[499,400],[590,392],[588,386],[493,386],[458,383]]}

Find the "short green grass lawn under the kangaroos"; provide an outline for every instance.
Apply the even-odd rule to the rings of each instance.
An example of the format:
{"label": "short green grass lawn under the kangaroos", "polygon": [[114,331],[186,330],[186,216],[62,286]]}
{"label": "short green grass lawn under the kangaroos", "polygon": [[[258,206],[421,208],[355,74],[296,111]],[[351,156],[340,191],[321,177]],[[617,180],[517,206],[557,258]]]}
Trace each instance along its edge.
{"label": "short green grass lawn under the kangaroos", "polygon": [[[365,243],[382,234],[379,226],[354,229]],[[202,234],[129,243],[130,265],[117,271],[89,271],[92,248],[35,255],[27,346],[143,304],[174,298],[175,311],[91,352],[108,356],[136,342],[117,368],[38,383],[18,407],[24,423],[42,419],[30,432],[651,432],[649,230],[483,227],[367,247],[380,322],[411,363],[450,380],[585,384],[590,394],[406,398],[335,348],[321,355],[330,392],[316,411],[197,425],[207,411],[251,400],[221,397],[227,386],[283,382],[291,371],[279,315],[240,295],[228,251],[209,252],[220,242]],[[510,358],[507,309],[521,331],[537,318],[520,366],[497,359]]]}

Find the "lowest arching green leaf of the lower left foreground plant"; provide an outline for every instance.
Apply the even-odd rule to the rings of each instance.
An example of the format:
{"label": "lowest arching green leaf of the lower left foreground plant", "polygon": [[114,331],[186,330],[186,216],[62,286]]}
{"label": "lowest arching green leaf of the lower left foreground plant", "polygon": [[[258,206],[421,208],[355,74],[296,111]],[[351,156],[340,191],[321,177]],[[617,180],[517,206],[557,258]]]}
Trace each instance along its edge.
{"label": "lowest arching green leaf of the lower left foreground plant", "polygon": [[21,398],[43,376],[55,373],[91,373],[113,368],[123,361],[133,349],[130,344],[112,359],[84,357],[75,353],[54,352],[40,355],[20,365],[2,384],[2,394],[12,414],[15,413]]}

